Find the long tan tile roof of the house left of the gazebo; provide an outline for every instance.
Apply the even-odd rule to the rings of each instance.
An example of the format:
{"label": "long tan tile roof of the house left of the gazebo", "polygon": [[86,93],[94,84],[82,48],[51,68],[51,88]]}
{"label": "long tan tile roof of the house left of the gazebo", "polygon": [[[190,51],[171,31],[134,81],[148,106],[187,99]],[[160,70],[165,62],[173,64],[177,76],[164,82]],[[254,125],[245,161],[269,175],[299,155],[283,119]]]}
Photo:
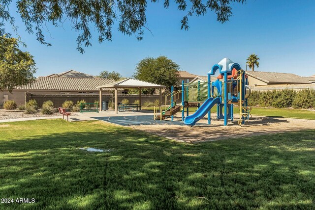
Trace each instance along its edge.
{"label": "long tan tile roof of the house left of the gazebo", "polygon": [[100,78],[54,78],[38,77],[34,82],[16,86],[18,90],[98,90],[97,86],[114,82]]}

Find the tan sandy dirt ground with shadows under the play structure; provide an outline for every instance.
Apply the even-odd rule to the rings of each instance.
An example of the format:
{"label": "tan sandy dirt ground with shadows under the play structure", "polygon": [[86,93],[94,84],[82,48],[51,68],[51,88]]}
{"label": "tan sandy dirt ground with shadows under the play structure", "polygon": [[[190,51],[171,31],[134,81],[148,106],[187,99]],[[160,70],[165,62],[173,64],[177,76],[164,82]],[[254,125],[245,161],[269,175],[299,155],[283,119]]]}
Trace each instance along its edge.
{"label": "tan sandy dirt ground with shadows under the play structure", "polygon": [[[215,115],[212,117],[215,118]],[[239,126],[237,122],[238,118],[234,118],[234,121],[229,120],[227,126],[224,126],[223,120],[213,118],[211,120],[211,125],[205,125],[207,124],[207,118],[203,118],[193,127],[181,125],[148,125],[131,127],[166,138],[191,143],[216,141],[242,136],[252,137],[256,135],[288,131],[315,130],[315,120],[253,116],[251,120],[245,122],[245,125]],[[180,116],[176,116],[174,120],[180,119]]]}

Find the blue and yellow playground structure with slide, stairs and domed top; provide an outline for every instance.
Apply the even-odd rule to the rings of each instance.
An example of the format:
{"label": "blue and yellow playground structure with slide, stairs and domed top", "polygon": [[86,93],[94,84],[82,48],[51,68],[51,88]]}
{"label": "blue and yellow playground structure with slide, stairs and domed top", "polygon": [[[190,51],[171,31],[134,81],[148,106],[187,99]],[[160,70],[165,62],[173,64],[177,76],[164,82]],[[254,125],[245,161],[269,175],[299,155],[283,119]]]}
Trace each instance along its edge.
{"label": "blue and yellow playground structure with slide, stairs and domed top", "polygon": [[[219,70],[216,81],[211,82],[211,76]],[[182,105],[177,105],[176,101],[182,96]],[[182,121],[186,125],[194,126],[208,113],[208,124],[211,124],[211,108],[217,105],[217,118],[224,120],[227,125],[228,119],[233,121],[233,105],[239,105],[238,124],[245,124],[249,119],[251,107],[248,106],[248,98],[251,89],[248,86],[248,79],[240,65],[234,63],[229,58],[223,58],[215,64],[208,72],[208,82],[182,82],[181,90],[174,91],[165,96],[164,107],[160,107],[159,113],[154,110],[154,119],[163,120],[166,117],[174,119],[174,114],[182,111]],[[167,106],[169,105],[169,106]],[[189,115],[189,108],[197,107],[195,113]],[[185,117],[185,108],[187,115]],[[223,111],[224,108],[224,111]],[[164,109],[164,111],[163,111]]]}

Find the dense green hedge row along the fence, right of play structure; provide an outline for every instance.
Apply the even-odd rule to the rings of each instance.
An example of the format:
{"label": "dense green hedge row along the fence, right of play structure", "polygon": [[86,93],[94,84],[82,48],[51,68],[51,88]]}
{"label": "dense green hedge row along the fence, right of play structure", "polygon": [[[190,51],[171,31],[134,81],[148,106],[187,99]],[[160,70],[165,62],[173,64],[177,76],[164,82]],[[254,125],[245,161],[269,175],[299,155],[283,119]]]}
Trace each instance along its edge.
{"label": "dense green hedge row along the fence, right of play structure", "polygon": [[315,90],[304,89],[295,91],[290,89],[273,91],[252,91],[249,105],[276,108],[315,108]]}

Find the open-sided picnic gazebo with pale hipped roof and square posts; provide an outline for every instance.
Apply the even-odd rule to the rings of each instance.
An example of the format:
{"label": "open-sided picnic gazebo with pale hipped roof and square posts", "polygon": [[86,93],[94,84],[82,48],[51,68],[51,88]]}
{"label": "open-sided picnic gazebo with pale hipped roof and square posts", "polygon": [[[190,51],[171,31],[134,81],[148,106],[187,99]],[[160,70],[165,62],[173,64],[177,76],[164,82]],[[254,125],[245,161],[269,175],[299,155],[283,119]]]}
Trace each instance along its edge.
{"label": "open-sided picnic gazebo with pale hipped roof and square posts", "polygon": [[141,89],[142,88],[158,88],[159,89],[159,105],[162,105],[162,88],[165,88],[164,85],[155,84],[147,81],[142,81],[138,79],[123,79],[120,81],[115,81],[112,83],[104,84],[98,86],[99,88],[99,111],[102,110],[102,89],[115,89],[115,112],[118,113],[118,89],[139,89],[139,104],[141,106]]}

